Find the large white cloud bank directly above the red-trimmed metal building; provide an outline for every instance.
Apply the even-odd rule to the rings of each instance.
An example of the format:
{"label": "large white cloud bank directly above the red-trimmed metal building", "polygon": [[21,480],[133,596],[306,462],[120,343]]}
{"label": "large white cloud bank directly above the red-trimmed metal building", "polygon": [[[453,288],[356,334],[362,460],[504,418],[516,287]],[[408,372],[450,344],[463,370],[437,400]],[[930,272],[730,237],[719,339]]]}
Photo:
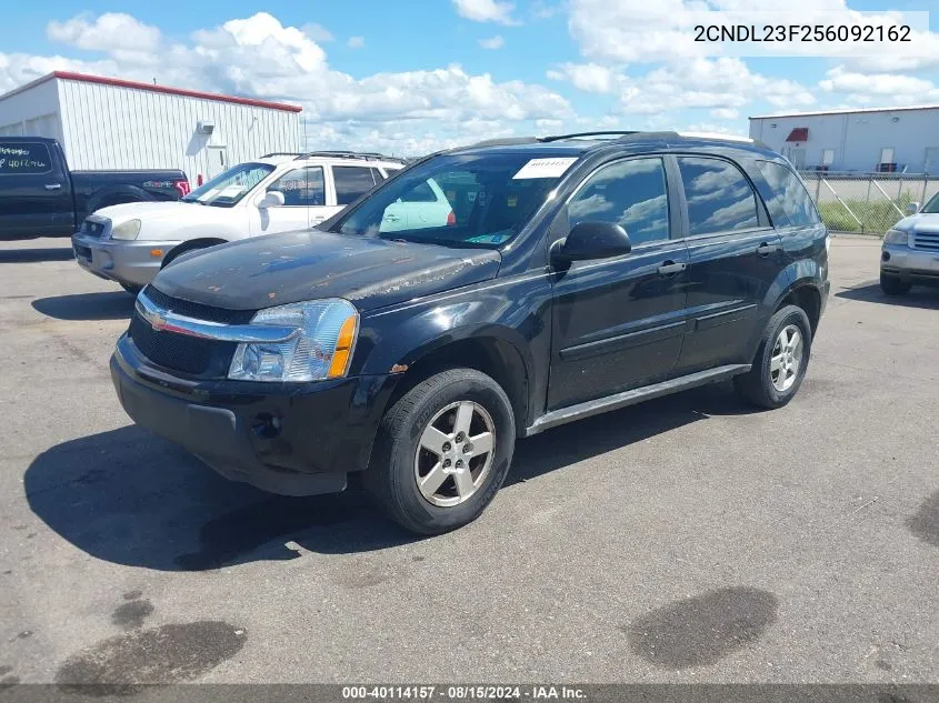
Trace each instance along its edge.
{"label": "large white cloud bank directly above the red-trimmed metal building", "polygon": [[353,78],[332,68],[304,29],[284,27],[266,12],[196,31],[181,42],[122,16],[123,27],[148,38],[147,52],[103,41],[101,28],[112,20],[102,18],[49,24],[50,38],[97,52],[87,60],[0,51],[0,92],[57,69],[146,82],[156,77],[168,86],[300,104],[311,147],[409,154],[517,130],[532,133],[535,120],[576,117],[565,98],[542,86],[497,81],[456,64]]}

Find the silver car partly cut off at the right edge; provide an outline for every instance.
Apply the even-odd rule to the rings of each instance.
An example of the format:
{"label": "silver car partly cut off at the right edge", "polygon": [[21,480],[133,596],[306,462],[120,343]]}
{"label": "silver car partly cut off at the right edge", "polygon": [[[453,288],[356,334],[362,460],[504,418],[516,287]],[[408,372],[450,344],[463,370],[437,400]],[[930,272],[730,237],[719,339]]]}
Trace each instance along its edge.
{"label": "silver car partly cut off at the right edge", "polygon": [[939,287],[939,193],[883,235],[880,288],[887,295],[905,295],[913,285]]}

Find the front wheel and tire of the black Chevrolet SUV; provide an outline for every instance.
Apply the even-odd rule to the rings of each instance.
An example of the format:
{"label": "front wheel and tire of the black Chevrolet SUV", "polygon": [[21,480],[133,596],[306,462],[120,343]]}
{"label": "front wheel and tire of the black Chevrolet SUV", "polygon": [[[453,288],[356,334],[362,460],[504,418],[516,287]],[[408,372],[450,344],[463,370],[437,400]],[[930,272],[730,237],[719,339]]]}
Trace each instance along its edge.
{"label": "front wheel and tire of the black Chevrolet SUV", "polygon": [[[466,422],[458,415],[463,412],[459,416],[466,418],[470,411],[471,429],[461,442],[457,429]],[[430,433],[431,424],[446,432]],[[490,428],[492,445],[483,453],[487,440],[480,438]],[[447,442],[440,446],[450,449],[441,453],[428,450],[422,445],[426,432],[427,441],[446,435]],[[470,438],[478,444],[468,442]],[[449,532],[476,520],[492,501],[509,471],[515,440],[515,415],[502,388],[475,369],[450,369],[417,384],[386,412],[362,481],[371,499],[406,530],[418,534]],[[462,453],[467,444],[471,454]],[[467,461],[459,459],[467,455]],[[450,468],[444,470],[447,461]],[[457,469],[460,464],[463,468]],[[442,483],[431,489],[433,479],[440,476]],[[429,498],[418,485],[420,480],[426,481],[424,491],[433,493]]]}

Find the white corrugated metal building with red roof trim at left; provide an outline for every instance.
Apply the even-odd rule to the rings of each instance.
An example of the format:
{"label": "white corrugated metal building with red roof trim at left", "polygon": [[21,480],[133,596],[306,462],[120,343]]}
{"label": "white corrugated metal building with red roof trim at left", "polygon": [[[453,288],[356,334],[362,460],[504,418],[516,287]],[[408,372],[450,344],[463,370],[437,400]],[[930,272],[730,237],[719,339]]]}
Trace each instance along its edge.
{"label": "white corrugated metal building with red roof trim at left", "polygon": [[0,96],[0,135],[57,138],[72,169],[182,169],[194,187],[299,151],[300,108],[54,71]]}

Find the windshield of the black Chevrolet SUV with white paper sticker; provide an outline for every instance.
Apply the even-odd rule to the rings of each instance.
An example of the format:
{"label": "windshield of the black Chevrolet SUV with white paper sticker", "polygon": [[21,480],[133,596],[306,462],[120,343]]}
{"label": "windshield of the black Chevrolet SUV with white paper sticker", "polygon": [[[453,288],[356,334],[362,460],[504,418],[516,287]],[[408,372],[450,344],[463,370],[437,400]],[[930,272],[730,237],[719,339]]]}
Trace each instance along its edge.
{"label": "windshield of the black Chevrolet SUV with white paper sticker", "polygon": [[441,155],[398,175],[333,232],[449,247],[501,247],[518,234],[577,158]]}

